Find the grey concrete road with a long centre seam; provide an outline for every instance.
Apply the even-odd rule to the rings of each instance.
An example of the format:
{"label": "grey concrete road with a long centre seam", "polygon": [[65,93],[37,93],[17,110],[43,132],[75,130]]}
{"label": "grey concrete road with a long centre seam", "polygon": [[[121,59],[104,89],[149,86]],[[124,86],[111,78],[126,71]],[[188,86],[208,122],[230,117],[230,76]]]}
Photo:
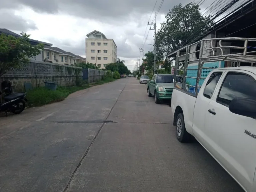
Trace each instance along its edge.
{"label": "grey concrete road with a long centre seam", "polygon": [[0,117],[2,192],[240,192],[131,77]]}

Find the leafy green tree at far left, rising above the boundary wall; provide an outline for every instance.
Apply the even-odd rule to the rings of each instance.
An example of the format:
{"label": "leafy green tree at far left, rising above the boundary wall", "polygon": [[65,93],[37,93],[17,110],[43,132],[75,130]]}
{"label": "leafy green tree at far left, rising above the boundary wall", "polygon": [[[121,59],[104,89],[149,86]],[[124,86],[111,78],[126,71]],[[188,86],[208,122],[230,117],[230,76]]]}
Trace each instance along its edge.
{"label": "leafy green tree at far left, rising above the boundary wall", "polygon": [[31,57],[41,53],[44,45],[31,45],[30,35],[22,32],[21,37],[0,34],[0,77],[12,68],[27,64]]}

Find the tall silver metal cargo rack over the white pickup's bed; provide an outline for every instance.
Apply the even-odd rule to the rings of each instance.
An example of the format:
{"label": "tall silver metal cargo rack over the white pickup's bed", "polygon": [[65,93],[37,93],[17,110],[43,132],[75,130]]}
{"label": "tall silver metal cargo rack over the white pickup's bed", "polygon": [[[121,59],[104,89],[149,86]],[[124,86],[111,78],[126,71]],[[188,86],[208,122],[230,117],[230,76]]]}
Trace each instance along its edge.
{"label": "tall silver metal cargo rack over the white pickup's bed", "polygon": [[[223,44],[230,44],[230,46],[223,46]],[[231,44],[237,43],[236,46],[231,46]],[[215,46],[214,46],[215,44]],[[250,45],[250,46],[248,46]],[[199,49],[200,46],[200,49]],[[195,48],[195,51],[190,52],[191,48]],[[226,51],[228,49],[228,52]],[[248,51],[248,49],[255,49],[253,51]],[[235,54],[230,54],[231,50]],[[240,51],[239,51],[240,50]],[[204,56],[206,53],[207,56]],[[216,61],[230,61],[230,67],[239,67],[241,62],[250,63],[250,66],[256,66],[256,39],[254,38],[239,38],[239,37],[227,37],[227,38],[213,38],[213,39],[203,39],[201,41],[195,42],[191,45],[187,45],[177,51],[171,53],[167,57],[174,57],[176,54],[176,63],[174,68],[174,87],[185,90],[185,85],[190,87],[195,87],[195,93],[197,96],[199,81],[205,79],[206,77],[201,77],[202,69],[213,69],[212,67],[203,67],[204,63],[216,62]],[[198,54],[198,58],[190,60],[191,54]],[[181,58],[184,59],[181,59]],[[180,61],[181,60],[181,61]],[[198,63],[197,68],[188,69],[188,64]],[[179,68],[183,65],[183,68]],[[183,75],[179,75],[179,71],[183,70]],[[197,70],[196,77],[187,76],[188,70]],[[177,87],[176,77],[182,78],[182,88]],[[186,84],[186,78],[196,79],[196,85]]]}

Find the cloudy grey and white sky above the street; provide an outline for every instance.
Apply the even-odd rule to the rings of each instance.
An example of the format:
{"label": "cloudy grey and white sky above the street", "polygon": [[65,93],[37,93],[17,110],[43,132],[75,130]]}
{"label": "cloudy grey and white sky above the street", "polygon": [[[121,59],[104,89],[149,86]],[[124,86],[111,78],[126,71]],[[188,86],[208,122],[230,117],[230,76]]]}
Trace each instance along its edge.
{"label": "cloudy grey and white sky above the street", "polygon": [[[207,0],[202,6],[208,6]],[[157,29],[165,14],[177,3],[190,0],[165,0],[156,17]],[[85,56],[86,34],[98,30],[114,39],[117,56],[133,70],[140,57],[139,48],[144,43],[144,53],[152,51],[153,33],[147,22],[156,0],[0,0],[0,28],[31,34],[32,39],[50,42],[65,51]],[[161,0],[154,9],[157,11]],[[150,22],[153,19],[151,16]],[[144,41],[143,41],[144,39]]]}

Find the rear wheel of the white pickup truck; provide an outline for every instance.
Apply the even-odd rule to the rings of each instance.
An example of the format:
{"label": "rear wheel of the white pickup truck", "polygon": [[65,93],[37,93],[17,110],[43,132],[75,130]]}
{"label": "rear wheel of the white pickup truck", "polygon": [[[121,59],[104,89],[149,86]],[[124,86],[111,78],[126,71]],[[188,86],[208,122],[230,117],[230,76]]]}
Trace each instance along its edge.
{"label": "rear wheel of the white pickup truck", "polygon": [[191,141],[191,135],[186,131],[183,114],[178,114],[176,118],[176,137],[181,143]]}

